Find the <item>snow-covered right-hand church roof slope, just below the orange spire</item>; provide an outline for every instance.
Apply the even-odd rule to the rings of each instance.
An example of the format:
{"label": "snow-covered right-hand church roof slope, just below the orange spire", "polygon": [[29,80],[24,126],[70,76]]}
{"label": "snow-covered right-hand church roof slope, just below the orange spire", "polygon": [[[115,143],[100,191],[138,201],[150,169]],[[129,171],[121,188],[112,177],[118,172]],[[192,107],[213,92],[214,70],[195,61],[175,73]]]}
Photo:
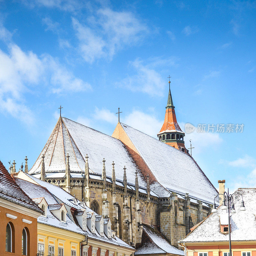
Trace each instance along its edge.
{"label": "snow-covered right-hand church roof slope, just below the orange spire", "polygon": [[126,124],[121,125],[161,185],[173,192],[213,202],[218,192],[191,156]]}

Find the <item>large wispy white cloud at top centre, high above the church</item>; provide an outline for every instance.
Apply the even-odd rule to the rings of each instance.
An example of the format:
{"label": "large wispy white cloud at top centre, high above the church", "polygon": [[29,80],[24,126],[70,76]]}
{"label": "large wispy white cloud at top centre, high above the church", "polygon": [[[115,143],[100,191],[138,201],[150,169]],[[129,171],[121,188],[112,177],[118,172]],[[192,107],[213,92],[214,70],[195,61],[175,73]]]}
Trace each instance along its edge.
{"label": "large wispy white cloud at top centre, high above the church", "polygon": [[131,12],[115,12],[109,8],[99,9],[88,19],[88,25],[72,18],[73,27],[79,40],[79,49],[84,60],[92,63],[108,57],[125,46],[137,44],[148,28]]}

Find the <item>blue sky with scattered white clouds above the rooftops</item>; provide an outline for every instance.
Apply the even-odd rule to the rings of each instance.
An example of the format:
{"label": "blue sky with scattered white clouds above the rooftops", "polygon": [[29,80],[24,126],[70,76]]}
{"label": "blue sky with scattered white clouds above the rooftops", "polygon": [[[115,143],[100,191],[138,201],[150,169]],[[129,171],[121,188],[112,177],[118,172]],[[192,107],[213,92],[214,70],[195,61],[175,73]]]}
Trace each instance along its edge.
{"label": "blue sky with scattered white clouds above the rooftops", "polygon": [[255,187],[256,2],[0,1],[0,159],[32,167],[59,117],[111,135],[122,122],[156,137],[171,75],[193,157],[218,187]]}

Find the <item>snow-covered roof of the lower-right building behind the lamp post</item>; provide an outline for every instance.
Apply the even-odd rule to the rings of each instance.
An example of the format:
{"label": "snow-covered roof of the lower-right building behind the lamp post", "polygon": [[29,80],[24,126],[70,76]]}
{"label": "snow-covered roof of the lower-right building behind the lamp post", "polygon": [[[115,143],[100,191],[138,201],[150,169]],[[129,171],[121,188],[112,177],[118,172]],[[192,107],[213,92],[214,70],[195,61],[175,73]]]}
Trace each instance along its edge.
{"label": "snow-covered roof of the lower-right building behind the lamp post", "polygon": [[[243,195],[245,211],[240,210],[242,198],[236,192]],[[233,194],[236,213],[230,215],[231,240],[256,240],[256,188],[239,188],[236,192]],[[220,233],[221,221],[227,223],[227,210],[220,206],[180,242],[228,241],[228,235]]]}

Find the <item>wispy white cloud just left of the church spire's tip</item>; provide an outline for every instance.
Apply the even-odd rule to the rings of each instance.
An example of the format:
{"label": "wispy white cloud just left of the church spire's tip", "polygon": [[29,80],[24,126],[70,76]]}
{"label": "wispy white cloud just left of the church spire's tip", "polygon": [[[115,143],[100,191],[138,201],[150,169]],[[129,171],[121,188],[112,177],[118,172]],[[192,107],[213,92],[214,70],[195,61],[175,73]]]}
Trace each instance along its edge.
{"label": "wispy white cloud just left of the church spire's tip", "polygon": [[[131,61],[130,67],[135,71],[135,75],[127,76],[122,81],[116,83],[116,85],[126,87],[134,92],[145,92],[151,96],[163,96],[166,79],[163,79],[155,68],[165,62],[165,60],[158,59],[145,65],[140,59]],[[172,59],[168,59],[167,62],[166,65],[175,65]]]}

